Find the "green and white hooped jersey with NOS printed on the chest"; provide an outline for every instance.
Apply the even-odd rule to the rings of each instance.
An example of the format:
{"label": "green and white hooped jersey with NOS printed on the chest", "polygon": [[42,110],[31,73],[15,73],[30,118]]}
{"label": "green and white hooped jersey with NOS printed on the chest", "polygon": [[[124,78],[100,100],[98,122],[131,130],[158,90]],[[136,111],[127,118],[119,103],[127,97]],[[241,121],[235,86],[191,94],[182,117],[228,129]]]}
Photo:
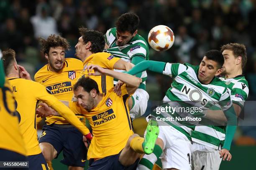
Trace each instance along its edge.
{"label": "green and white hooped jersey with NOS printed on the chest", "polygon": [[[202,84],[197,78],[198,70],[199,66],[187,63],[166,63],[163,74],[169,75],[174,79],[163,101],[173,101],[170,102],[171,104],[175,101],[181,101],[180,103],[187,101],[190,107],[202,107],[202,110],[207,110],[212,105],[219,104],[222,110],[228,110],[232,102],[225,83],[214,77],[210,84]],[[172,116],[174,120],[176,120],[176,117],[180,117],[177,112],[173,114],[161,113],[160,116]],[[194,118],[203,117],[204,112],[197,112],[189,116]],[[191,140],[191,131],[195,129],[195,125],[192,125],[191,122],[169,121],[167,123]]]}

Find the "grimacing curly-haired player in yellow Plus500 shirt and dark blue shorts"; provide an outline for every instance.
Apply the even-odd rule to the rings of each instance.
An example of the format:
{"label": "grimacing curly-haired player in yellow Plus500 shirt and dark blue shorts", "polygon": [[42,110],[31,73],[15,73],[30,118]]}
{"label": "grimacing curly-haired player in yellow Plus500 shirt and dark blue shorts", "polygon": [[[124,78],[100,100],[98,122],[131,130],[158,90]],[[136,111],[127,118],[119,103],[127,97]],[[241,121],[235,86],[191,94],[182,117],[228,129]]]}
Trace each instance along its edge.
{"label": "grimacing curly-haired player in yellow Plus500 shirt and dark blue shorts", "polygon": [[[70,46],[63,37],[51,35],[47,40],[40,38],[40,42],[49,63],[36,72],[36,82],[47,87],[59,100],[71,100],[73,85],[79,78],[83,63],[75,58],[65,58],[65,51]],[[85,124],[83,115],[77,114],[77,118]],[[46,117],[46,123],[39,145],[47,163],[51,165],[51,160],[63,150],[64,160],[61,163],[71,170],[82,170],[83,160],[86,160],[82,134],[60,116]]]}

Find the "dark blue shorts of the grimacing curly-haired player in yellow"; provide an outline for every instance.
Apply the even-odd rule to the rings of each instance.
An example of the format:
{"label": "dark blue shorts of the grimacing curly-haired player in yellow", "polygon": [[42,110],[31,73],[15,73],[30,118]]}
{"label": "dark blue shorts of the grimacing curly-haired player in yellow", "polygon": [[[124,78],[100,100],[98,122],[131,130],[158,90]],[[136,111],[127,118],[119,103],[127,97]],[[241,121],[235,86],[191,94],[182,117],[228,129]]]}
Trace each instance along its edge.
{"label": "dark blue shorts of the grimacing curly-haired player in yellow", "polygon": [[[67,166],[84,167],[87,160],[87,149],[83,135],[72,125],[44,125],[39,143],[50,143],[57,151],[57,157],[63,151],[61,163]],[[57,158],[56,157],[56,158]]]}

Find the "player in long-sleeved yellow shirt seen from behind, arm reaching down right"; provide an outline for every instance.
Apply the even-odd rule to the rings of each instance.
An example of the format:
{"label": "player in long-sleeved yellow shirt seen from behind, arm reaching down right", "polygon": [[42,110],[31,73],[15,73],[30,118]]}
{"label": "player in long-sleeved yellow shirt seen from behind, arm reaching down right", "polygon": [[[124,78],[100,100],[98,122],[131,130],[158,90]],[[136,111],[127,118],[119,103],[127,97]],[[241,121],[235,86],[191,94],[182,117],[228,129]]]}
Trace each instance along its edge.
{"label": "player in long-sleeved yellow shirt seen from behind, arm reaching down right", "polygon": [[46,102],[55,110],[71,115],[69,121],[71,120],[76,127],[79,127],[84,135],[88,134],[89,130],[77,119],[71,110],[66,110],[66,106],[59,102],[54,95],[49,94],[47,87],[44,87],[38,82],[20,78],[20,75],[26,70],[23,69],[23,72],[20,74],[20,69],[15,60],[15,52],[13,50],[4,51],[3,60],[6,76],[12,87],[17,104],[17,113],[20,117],[20,132],[25,142],[29,167],[31,170],[48,170],[48,166],[38,145],[36,133],[35,111],[39,100]]}

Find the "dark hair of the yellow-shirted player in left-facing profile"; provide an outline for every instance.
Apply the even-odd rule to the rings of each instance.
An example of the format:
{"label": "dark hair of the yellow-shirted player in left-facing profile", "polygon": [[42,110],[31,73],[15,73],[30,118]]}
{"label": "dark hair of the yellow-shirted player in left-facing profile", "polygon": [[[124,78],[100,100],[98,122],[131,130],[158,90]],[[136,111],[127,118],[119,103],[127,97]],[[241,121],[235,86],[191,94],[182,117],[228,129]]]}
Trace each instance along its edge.
{"label": "dark hair of the yellow-shirted player in left-facing profile", "polygon": [[90,51],[92,53],[102,52],[105,47],[105,39],[102,32],[95,31],[95,30],[87,30],[84,27],[79,28],[79,33],[84,40],[84,44],[87,42],[91,42],[92,45],[90,47]]}

